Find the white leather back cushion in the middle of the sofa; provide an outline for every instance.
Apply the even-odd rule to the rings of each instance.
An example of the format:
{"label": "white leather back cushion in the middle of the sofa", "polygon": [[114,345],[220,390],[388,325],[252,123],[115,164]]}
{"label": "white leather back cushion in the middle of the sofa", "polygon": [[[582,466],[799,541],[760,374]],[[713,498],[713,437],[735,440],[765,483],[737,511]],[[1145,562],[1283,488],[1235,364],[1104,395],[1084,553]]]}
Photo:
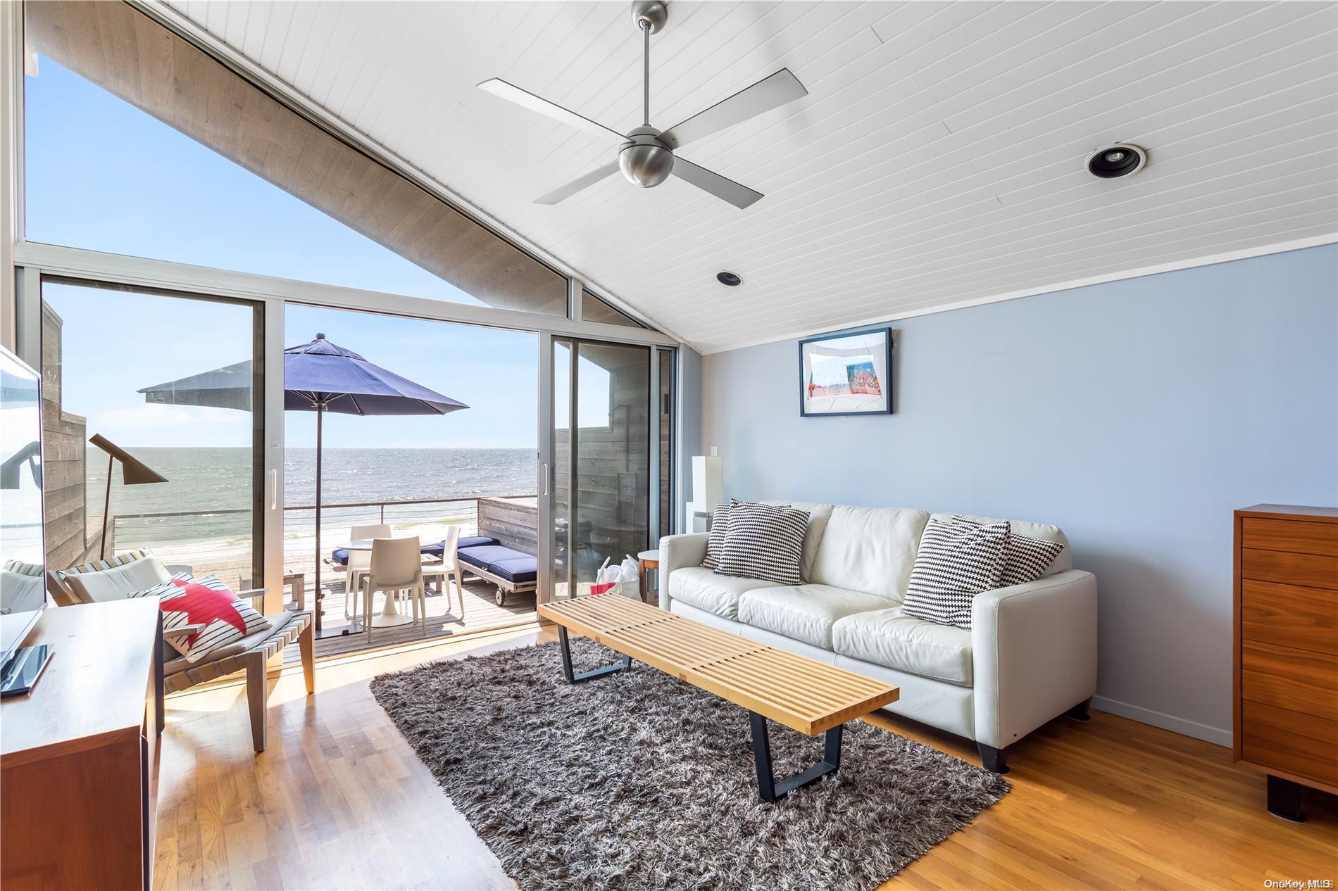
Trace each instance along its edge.
{"label": "white leather back cushion in the middle of the sofa", "polygon": [[814,559],[812,581],[900,601],[929,514],[838,504]]}

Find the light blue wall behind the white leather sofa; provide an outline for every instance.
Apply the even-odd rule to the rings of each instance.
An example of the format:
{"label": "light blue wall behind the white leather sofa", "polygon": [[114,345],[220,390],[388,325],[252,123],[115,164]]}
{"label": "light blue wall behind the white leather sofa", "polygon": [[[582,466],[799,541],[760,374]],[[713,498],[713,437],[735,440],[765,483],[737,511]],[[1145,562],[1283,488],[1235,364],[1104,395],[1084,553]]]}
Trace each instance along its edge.
{"label": "light blue wall behind the white leather sofa", "polygon": [[799,417],[793,341],[706,356],[727,494],[1056,523],[1097,705],[1230,744],[1231,511],[1338,504],[1338,246],[892,328],[891,416]]}

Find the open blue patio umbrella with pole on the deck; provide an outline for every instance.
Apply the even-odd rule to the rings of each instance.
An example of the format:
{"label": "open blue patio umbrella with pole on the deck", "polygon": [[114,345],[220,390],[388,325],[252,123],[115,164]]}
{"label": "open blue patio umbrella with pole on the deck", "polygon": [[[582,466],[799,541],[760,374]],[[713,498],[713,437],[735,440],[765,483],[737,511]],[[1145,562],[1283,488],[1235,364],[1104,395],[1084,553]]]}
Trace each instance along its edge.
{"label": "open blue patio umbrella with pole on the deck", "polygon": [[[146,403],[250,411],[249,361],[191,375],[139,392]],[[316,591],[321,590],[321,450],[325,412],[339,415],[446,415],[468,408],[407,377],[373,365],[316,334],[284,351],[284,411],[316,412]],[[320,606],[317,605],[317,613]]]}

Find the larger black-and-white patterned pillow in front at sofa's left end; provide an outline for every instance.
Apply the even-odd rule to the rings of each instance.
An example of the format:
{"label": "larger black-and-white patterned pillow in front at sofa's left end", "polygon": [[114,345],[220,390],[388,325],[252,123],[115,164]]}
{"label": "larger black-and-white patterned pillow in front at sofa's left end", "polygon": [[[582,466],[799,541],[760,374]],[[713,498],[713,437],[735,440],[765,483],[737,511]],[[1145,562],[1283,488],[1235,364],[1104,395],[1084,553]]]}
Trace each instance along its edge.
{"label": "larger black-and-white patterned pillow in front at sofa's left end", "polygon": [[737,502],[729,508],[729,531],[714,571],[777,585],[800,585],[799,561],[805,531],[808,511]]}

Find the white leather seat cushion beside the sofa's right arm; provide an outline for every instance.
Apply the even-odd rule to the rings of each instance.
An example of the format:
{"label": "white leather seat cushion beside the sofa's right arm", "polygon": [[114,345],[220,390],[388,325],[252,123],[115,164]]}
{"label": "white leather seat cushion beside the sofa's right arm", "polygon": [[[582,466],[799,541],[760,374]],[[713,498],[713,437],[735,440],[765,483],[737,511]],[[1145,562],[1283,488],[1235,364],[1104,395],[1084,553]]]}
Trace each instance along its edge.
{"label": "white leather seat cushion beside the sofa's right arm", "polygon": [[899,606],[855,613],[832,627],[842,656],[971,686],[971,633],[910,617]]}

